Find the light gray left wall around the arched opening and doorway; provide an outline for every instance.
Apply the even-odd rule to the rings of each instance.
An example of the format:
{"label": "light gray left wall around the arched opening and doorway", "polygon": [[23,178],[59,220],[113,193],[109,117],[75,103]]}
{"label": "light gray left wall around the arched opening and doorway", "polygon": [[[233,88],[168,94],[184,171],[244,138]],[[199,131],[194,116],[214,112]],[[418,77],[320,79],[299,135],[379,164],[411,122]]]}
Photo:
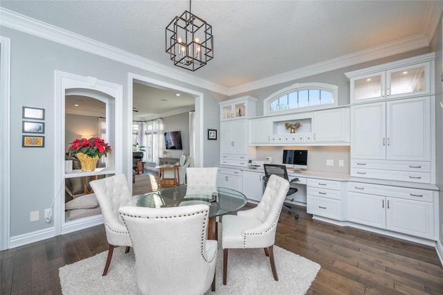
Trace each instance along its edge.
{"label": "light gray left wall around the arched opening and doorway", "polygon": [[[74,73],[82,76],[96,77],[99,80],[123,85],[123,171],[132,166],[131,123],[128,118],[127,97],[128,73],[136,73],[147,78],[162,80],[179,87],[204,93],[204,129],[219,127],[218,112],[213,106],[218,100],[225,99],[212,91],[201,89],[190,84],[157,75],[142,69],[128,66],[105,57],[93,55],[48,41],[33,35],[21,33],[1,26],[1,35],[11,40],[11,87],[10,87],[10,236],[24,235],[34,231],[49,229],[54,226],[44,222],[44,209],[53,203],[55,188],[55,70]],[[45,147],[21,147],[21,107],[40,107],[46,110]],[[210,116],[211,118],[206,118]],[[204,136],[202,134],[202,136]],[[127,139],[128,138],[128,139]],[[206,137],[204,137],[206,138]],[[128,142],[125,142],[128,141]],[[204,141],[204,149],[207,149]],[[211,155],[219,154],[219,146],[211,145]],[[218,163],[219,157],[204,157],[204,166]],[[24,169],[26,168],[26,169]],[[39,211],[40,220],[30,222],[30,212]]]}

